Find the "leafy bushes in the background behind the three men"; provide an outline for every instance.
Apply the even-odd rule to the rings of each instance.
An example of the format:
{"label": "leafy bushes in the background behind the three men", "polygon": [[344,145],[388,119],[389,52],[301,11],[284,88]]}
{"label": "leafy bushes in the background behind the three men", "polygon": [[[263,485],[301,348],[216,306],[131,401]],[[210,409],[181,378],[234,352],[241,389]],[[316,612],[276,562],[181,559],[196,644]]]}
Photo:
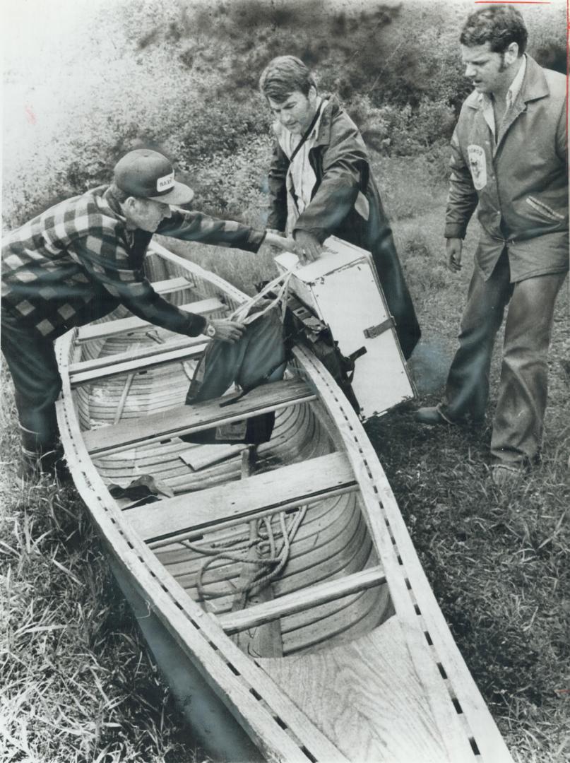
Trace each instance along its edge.
{"label": "leafy bushes in the background behind the three men", "polygon": [[[108,182],[118,157],[137,146],[163,151],[192,177],[198,206],[255,217],[271,121],[257,80],[279,53],[301,56],[321,92],[340,95],[372,149],[421,156],[430,176],[445,177],[445,144],[470,88],[457,39],[471,7],[443,0],[101,6],[93,11],[97,32],[82,28],[76,41],[76,55],[94,50],[89,66],[70,61],[76,71],[70,77],[64,70],[63,90],[51,92],[56,85],[49,80],[34,88],[43,86],[58,108],[44,109],[33,132],[6,130],[5,224],[14,227],[61,198]],[[563,63],[562,16],[559,8],[527,11],[530,52],[552,66]],[[17,69],[8,71],[7,82],[18,92]]]}

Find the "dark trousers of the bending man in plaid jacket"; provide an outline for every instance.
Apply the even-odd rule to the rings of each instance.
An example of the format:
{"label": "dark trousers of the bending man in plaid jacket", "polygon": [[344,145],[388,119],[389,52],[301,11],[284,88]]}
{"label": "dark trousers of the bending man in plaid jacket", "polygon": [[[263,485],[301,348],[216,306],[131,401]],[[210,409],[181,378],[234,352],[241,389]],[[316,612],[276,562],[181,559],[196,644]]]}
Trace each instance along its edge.
{"label": "dark trousers of the bending man in plaid jacket", "polygon": [[61,391],[53,342],[2,310],[2,353],[14,382],[24,456],[54,452],[59,439],[56,399]]}

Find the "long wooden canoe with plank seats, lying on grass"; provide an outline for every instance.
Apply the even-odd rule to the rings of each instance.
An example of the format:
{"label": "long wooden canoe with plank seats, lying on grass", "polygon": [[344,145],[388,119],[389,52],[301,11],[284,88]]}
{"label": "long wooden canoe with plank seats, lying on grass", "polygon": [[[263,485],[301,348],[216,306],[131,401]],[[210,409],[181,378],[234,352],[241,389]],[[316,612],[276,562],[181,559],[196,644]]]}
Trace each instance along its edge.
{"label": "long wooden canoe with plank seats, lying on grass", "polygon": [[[192,311],[246,300],[158,244],[147,268]],[[195,739],[229,761],[511,761],[324,366],[298,346],[283,381],[185,406],[206,341],[115,313],[57,346],[69,468]],[[179,439],[269,410],[253,471],[240,446]],[[142,475],[160,500],[111,497]]]}

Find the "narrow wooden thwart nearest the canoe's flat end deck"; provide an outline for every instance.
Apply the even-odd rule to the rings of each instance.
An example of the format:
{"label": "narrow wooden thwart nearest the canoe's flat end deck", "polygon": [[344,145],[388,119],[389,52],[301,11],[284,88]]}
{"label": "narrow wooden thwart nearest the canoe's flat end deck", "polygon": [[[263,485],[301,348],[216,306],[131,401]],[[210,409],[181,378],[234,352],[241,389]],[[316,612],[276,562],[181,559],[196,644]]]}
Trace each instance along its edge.
{"label": "narrow wooden thwart nearest the canoe's flat end deck", "polygon": [[285,617],[304,610],[326,604],[349,594],[356,594],[379,583],[385,583],[386,576],[382,567],[372,567],[361,572],[354,572],[346,578],[331,580],[293,594],[272,599],[264,604],[256,604],[239,612],[230,612],[217,618],[226,633],[237,633],[246,628],[269,623],[278,617]]}

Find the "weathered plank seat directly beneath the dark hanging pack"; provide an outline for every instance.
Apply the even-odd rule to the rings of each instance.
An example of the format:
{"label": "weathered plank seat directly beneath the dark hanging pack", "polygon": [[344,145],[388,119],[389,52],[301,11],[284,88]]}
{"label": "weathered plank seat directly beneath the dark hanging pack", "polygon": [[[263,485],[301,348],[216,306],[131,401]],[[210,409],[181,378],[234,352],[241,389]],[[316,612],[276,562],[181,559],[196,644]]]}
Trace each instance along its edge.
{"label": "weathered plank seat directly beneath the dark hanging pack", "polygon": [[127,450],[135,443],[153,443],[190,431],[201,431],[279,410],[288,405],[301,404],[315,399],[314,393],[298,379],[273,381],[248,392],[244,398],[227,407],[214,400],[195,405],[180,405],[139,420],[125,421],[114,427],[101,427],[84,433],[85,446],[92,454]]}

